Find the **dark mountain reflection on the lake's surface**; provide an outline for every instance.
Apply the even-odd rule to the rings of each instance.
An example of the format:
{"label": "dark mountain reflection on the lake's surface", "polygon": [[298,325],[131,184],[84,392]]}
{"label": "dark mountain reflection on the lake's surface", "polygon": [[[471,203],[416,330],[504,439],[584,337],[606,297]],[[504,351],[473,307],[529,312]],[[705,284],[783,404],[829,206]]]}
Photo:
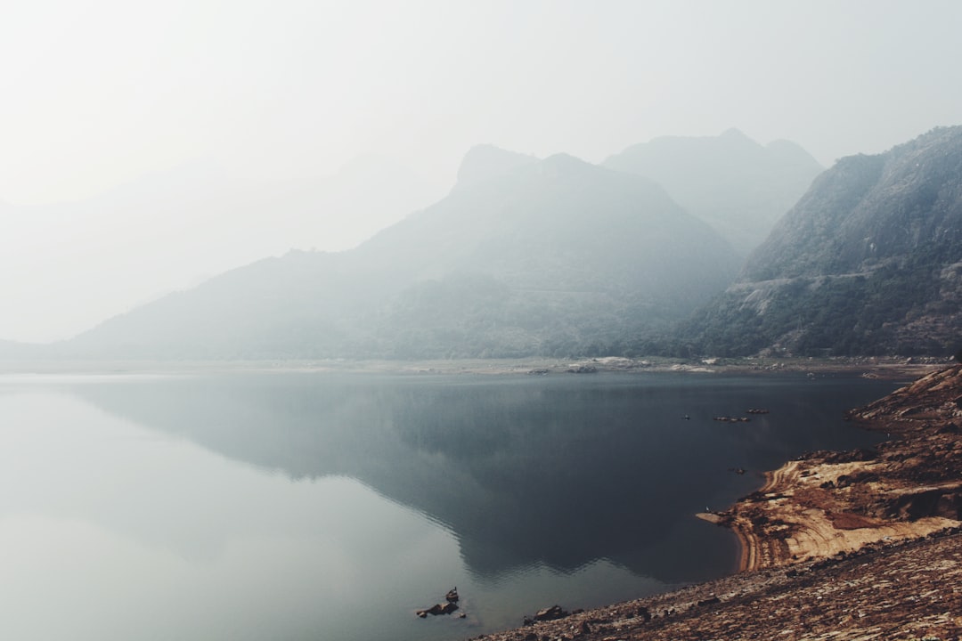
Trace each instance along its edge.
{"label": "dark mountain reflection on the lake's surface", "polygon": [[[479,580],[542,566],[573,573],[607,559],[676,583],[732,569],[731,537],[691,516],[757,484],[728,468],[769,469],[806,449],[864,444],[873,437],[840,430],[841,411],[891,388],[666,375],[271,374],[73,391],[292,479],[362,481],[453,532]],[[758,405],[772,414],[711,420]]]}

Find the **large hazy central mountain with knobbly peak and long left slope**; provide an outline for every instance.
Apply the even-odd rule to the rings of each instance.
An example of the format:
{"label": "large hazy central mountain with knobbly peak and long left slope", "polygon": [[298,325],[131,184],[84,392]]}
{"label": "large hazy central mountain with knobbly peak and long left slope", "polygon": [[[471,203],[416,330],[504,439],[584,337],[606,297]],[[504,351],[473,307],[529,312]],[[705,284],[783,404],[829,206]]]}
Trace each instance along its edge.
{"label": "large hazy central mountain with knobbly peak and long left slope", "polygon": [[461,172],[474,178],[442,201],[353,250],[246,265],[59,349],[184,358],[623,353],[733,277],[727,243],[659,185],[564,155],[492,171],[518,159],[490,152],[497,161]]}

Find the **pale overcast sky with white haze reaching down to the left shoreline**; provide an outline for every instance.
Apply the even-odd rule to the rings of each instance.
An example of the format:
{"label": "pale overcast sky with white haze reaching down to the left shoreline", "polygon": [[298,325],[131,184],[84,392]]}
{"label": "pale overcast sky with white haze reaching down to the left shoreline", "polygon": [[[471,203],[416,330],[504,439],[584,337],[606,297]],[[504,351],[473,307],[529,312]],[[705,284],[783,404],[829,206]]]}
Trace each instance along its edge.
{"label": "pale overcast sky with white haze reaching down to the left shoreline", "polygon": [[[954,0],[7,2],[0,338],[67,337],[247,260],[350,247],[443,195],[477,143],[596,162],[737,127],[826,166],[881,152],[962,124],[960,28]],[[358,162],[409,177],[396,212],[345,204],[365,186],[331,181]],[[284,217],[264,196],[279,184],[323,206]],[[149,185],[174,206],[124,209]]]}

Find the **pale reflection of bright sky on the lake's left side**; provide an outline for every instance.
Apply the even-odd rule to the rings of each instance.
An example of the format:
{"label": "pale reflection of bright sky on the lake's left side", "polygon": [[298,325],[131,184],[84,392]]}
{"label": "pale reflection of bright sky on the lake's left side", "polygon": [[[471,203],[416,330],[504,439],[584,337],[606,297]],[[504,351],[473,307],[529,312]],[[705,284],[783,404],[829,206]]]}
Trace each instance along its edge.
{"label": "pale reflection of bright sky on the lake's left side", "polygon": [[460,578],[457,541],[360,483],[291,483],[49,389],[0,391],[0,417],[0,637],[439,638],[398,629],[423,568]]}

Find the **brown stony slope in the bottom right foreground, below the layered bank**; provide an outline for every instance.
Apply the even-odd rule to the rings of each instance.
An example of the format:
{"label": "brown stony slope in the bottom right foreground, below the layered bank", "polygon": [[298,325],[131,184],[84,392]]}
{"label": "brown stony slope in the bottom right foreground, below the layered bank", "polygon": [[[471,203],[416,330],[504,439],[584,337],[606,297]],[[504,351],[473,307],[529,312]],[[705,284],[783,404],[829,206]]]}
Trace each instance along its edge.
{"label": "brown stony slope in the bottom right foreground, below the layered bank", "polygon": [[744,572],[478,641],[962,638],[962,531]]}

